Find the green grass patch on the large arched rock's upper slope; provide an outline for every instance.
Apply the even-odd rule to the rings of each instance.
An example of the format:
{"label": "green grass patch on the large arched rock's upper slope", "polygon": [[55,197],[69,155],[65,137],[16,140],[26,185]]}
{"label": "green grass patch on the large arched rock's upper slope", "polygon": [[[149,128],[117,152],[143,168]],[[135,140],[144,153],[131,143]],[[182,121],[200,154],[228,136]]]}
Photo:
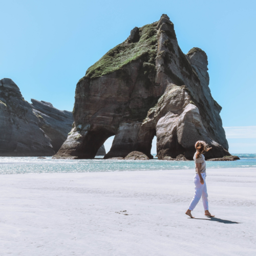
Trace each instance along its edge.
{"label": "green grass patch on the large arched rock's upper slope", "polygon": [[138,42],[129,43],[128,40],[125,40],[111,49],[87,70],[85,77],[93,79],[113,73],[127,63],[146,55],[148,56],[148,62],[155,63],[157,54],[156,25],[157,23],[153,23],[140,28],[140,40]]}

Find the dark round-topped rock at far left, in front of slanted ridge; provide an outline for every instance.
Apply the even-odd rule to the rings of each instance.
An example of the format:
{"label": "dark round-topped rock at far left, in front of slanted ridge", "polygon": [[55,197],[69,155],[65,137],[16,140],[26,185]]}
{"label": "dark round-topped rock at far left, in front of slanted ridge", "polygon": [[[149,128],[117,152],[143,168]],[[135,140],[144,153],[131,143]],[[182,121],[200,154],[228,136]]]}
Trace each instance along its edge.
{"label": "dark round-topped rock at far left, in front of slanted ridge", "polygon": [[0,80],[0,156],[52,156],[50,138],[32,106],[8,78]]}

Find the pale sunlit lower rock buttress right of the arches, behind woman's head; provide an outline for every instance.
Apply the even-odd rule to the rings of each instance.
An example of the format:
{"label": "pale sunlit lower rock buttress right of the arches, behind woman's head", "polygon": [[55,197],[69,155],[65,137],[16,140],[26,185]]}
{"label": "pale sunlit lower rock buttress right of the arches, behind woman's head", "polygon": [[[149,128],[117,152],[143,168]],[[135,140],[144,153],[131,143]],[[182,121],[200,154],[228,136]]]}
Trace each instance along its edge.
{"label": "pale sunlit lower rock buttress right of the arches, behind woman's head", "polygon": [[198,140],[204,140],[212,147],[205,153],[206,159],[230,155],[222,145],[212,139],[213,136],[206,130],[199,108],[194,102],[195,98],[185,86],[179,87],[170,83],[156,106],[148,111],[141,125],[140,141],[143,143],[145,140],[144,134],[148,127],[155,127],[158,159],[166,156],[176,158],[182,154],[186,159],[192,160]]}

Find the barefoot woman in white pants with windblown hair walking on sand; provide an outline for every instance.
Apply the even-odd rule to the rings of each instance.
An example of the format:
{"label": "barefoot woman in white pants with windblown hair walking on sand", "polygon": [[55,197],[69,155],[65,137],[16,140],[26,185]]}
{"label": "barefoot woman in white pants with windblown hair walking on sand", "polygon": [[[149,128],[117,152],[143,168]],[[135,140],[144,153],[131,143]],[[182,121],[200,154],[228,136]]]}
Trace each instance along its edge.
{"label": "barefoot woman in white pants with windblown hair walking on sand", "polygon": [[207,152],[211,149],[204,141],[199,140],[196,145],[196,154],[194,155],[194,161],[196,163],[196,175],[194,177],[194,183],[195,183],[195,195],[192,201],[189,204],[188,210],[186,211],[186,215],[188,215],[191,218],[195,218],[191,215],[191,210],[194,210],[194,208],[197,206],[200,198],[202,197],[203,200],[203,206],[206,216],[214,217],[210,214],[209,208],[208,208],[208,194],[207,194],[207,188],[205,183],[205,177],[206,177],[206,163],[204,159],[204,152]]}

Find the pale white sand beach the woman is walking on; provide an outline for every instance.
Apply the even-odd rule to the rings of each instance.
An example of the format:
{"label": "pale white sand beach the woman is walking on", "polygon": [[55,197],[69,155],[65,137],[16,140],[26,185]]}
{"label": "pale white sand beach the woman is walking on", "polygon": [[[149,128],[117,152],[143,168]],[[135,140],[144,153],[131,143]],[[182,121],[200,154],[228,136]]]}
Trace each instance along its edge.
{"label": "pale white sand beach the woman is walking on", "polygon": [[207,170],[212,220],[184,214],[193,176],[1,175],[0,255],[256,255],[256,168]]}

